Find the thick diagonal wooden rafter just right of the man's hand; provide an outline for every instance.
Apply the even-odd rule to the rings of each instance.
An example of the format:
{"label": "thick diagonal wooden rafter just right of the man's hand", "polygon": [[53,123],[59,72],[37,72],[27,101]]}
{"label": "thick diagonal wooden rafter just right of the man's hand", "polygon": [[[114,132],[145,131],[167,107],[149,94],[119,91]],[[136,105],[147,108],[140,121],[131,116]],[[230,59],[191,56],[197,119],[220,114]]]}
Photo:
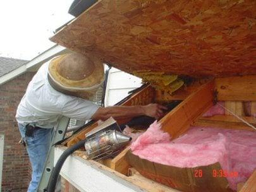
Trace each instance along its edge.
{"label": "thick diagonal wooden rafter just right of the man's hand", "polygon": [[172,139],[184,133],[200,114],[212,106],[212,91],[212,80],[201,85],[196,92],[161,119],[162,130],[168,132]]}

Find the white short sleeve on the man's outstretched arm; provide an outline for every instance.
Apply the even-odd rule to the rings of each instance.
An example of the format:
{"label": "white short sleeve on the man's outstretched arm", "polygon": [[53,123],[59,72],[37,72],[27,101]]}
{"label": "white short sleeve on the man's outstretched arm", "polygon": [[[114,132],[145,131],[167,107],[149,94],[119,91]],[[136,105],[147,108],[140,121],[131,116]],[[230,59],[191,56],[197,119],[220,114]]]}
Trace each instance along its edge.
{"label": "white short sleeve on the man's outstretched arm", "polygon": [[66,95],[67,102],[63,105],[61,114],[73,119],[86,121],[99,109],[99,105],[85,99]]}

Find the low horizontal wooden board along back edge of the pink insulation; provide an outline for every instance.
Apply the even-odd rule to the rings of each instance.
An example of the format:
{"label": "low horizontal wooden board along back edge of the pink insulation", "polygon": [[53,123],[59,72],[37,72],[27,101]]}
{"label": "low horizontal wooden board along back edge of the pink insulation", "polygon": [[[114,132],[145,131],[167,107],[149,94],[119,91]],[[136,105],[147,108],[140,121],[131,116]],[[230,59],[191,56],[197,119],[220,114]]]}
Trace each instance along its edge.
{"label": "low horizontal wooden board along back edge of the pink insulation", "polygon": [[[245,121],[256,127],[256,119],[253,117],[243,117]],[[226,129],[241,129],[248,131],[255,131],[247,124],[243,123],[234,116],[212,116],[212,117],[199,117],[193,126],[207,126],[216,128],[226,128]]]}

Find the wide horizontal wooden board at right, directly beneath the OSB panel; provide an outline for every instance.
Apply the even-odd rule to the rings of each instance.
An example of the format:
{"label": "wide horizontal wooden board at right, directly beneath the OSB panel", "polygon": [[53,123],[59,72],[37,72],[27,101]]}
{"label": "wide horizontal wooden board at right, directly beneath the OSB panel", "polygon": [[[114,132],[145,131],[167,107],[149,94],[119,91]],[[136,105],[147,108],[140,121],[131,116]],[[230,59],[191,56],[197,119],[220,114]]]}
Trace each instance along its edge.
{"label": "wide horizontal wooden board at right, directly beneath the OSB panel", "polygon": [[[255,65],[256,66],[256,65]],[[216,78],[218,100],[256,100],[256,76]]]}

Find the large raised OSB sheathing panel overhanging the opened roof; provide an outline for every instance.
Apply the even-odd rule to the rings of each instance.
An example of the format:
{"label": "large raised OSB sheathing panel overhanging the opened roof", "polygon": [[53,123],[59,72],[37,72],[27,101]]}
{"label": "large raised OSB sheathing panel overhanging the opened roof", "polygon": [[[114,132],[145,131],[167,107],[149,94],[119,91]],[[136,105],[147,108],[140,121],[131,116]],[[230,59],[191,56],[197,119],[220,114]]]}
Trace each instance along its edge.
{"label": "large raised OSB sheathing panel overhanging the opened roof", "polygon": [[102,0],[52,41],[128,73],[256,74],[255,0]]}

